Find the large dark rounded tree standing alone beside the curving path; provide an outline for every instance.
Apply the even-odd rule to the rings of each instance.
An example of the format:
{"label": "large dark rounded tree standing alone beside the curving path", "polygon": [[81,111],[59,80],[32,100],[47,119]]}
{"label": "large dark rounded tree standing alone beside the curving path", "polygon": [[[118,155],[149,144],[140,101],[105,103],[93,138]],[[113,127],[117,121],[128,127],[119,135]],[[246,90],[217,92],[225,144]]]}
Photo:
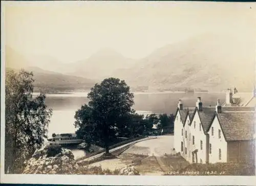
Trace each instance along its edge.
{"label": "large dark rounded tree standing alone beside the curving path", "polygon": [[134,95],[124,81],[117,78],[104,79],[95,84],[84,104],[75,113],[75,127],[87,143],[101,143],[106,154],[120,129],[120,119],[128,117],[134,104]]}

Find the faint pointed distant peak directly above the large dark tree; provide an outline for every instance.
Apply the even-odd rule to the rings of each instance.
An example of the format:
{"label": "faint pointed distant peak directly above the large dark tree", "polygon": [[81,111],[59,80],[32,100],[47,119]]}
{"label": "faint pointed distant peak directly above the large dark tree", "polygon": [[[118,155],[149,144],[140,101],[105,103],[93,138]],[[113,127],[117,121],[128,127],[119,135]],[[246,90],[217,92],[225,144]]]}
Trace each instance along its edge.
{"label": "faint pointed distant peak directly above the large dark tree", "polygon": [[101,49],[88,59],[71,63],[73,72],[69,74],[103,80],[110,77],[114,71],[120,68],[129,68],[136,62],[136,60],[126,58],[112,49]]}

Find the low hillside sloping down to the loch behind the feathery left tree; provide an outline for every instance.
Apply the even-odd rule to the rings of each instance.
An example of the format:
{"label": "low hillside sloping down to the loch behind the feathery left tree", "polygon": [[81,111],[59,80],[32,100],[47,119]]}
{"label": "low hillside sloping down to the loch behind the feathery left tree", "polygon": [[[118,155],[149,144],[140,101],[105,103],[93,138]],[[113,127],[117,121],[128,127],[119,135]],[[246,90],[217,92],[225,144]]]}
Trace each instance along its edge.
{"label": "low hillside sloping down to the loch behind the feathery left tree", "polygon": [[14,70],[17,72],[20,68],[24,68],[26,71],[33,72],[35,91],[84,91],[89,90],[96,83],[88,78],[69,76],[30,66],[30,63],[22,54],[17,53],[10,47],[6,48],[6,64],[6,71]]}

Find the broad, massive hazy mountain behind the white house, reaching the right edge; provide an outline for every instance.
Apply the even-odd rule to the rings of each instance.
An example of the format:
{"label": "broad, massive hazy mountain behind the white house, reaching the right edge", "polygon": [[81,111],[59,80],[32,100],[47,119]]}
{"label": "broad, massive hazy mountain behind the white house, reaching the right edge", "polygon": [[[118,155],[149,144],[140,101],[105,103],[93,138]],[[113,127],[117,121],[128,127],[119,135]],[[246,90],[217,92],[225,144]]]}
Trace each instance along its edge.
{"label": "broad, massive hazy mountain behind the white house, reaching the right edge", "polygon": [[254,85],[255,42],[229,35],[203,34],[162,47],[133,67],[113,73],[127,84],[152,90],[223,90]]}

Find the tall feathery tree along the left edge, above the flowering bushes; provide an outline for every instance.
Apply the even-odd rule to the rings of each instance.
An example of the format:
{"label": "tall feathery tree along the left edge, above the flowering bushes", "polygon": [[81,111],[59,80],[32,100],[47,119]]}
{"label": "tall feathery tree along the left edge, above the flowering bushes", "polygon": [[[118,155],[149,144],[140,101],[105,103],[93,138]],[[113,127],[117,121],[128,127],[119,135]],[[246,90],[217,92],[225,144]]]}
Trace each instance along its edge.
{"label": "tall feathery tree along the left edge, above the flowering bushes", "polygon": [[33,73],[6,72],[5,86],[5,172],[19,173],[23,162],[47,137],[52,110],[45,95],[33,97]]}

